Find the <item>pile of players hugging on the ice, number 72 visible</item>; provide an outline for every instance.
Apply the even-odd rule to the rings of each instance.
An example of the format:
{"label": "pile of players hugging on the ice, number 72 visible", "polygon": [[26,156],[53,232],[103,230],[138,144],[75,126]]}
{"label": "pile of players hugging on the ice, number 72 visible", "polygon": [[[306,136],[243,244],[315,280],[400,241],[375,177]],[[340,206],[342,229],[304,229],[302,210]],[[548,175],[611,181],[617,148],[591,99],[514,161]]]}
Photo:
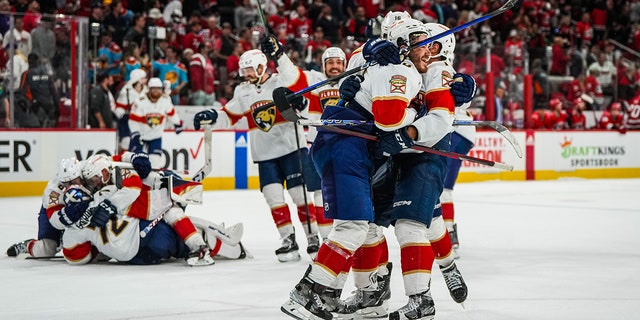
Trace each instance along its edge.
{"label": "pile of players hugging on the ice, number 72 visible", "polygon": [[[122,167],[116,165],[120,161]],[[42,197],[37,239],[13,245],[7,254],[50,258],[61,245],[65,260],[74,265],[98,259],[155,264],[171,258],[211,265],[215,256],[245,258],[241,224],[225,228],[185,215],[189,199],[174,194],[201,191],[199,185],[171,171],[152,171],[144,153],[62,159]]]}

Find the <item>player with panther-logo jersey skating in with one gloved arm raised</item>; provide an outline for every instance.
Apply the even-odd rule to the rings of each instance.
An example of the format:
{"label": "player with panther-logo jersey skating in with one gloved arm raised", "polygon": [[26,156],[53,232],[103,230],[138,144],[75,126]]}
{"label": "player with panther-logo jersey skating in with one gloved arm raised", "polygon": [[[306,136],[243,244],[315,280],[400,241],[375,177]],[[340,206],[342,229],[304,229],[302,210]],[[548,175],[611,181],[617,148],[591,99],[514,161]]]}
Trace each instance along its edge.
{"label": "player with panther-logo jersey skating in with one gloved arm raised", "polygon": [[[236,87],[233,99],[222,110],[231,123],[245,117],[248,120],[251,156],[258,163],[260,190],[282,240],[276,256],[280,262],[297,261],[300,254],[291,213],[284,198],[285,182],[307,235],[307,253],[314,256],[319,248],[316,215],[305,203],[303,173],[299,165],[307,154],[306,145],[298,144],[304,141],[304,132],[301,128],[296,129],[297,124],[282,118],[275,106],[259,112],[254,110],[272,101],[271,94],[275,88],[298,90],[306,85],[307,80],[302,70],[283,54],[282,45],[275,38],[267,37],[262,42],[262,50],[264,53],[254,49],[240,56],[240,73],[247,81]],[[267,73],[267,56],[277,62],[278,73]],[[214,109],[199,112],[194,117],[194,127],[198,130],[201,124],[213,124],[217,117]]]}

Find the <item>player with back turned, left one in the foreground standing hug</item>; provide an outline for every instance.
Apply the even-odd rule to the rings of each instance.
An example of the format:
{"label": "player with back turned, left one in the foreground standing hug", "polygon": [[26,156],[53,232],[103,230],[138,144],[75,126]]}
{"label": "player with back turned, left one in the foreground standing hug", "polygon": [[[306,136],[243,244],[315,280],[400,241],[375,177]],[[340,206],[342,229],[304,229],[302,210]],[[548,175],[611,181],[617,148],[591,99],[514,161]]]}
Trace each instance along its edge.
{"label": "player with back turned, left one in the foreground standing hug", "polygon": [[[419,21],[407,34],[426,34]],[[372,43],[368,43],[371,45]],[[365,45],[365,56],[373,47]],[[382,136],[395,136],[395,130],[412,123],[417,111],[409,107],[418,94],[425,69],[411,61],[400,63],[397,48],[393,48],[398,64],[375,65],[367,69],[360,90],[346,107],[325,108],[323,119],[354,119],[374,121],[375,125],[349,127],[351,130]],[[331,319],[332,312],[352,313],[340,300],[340,293],[349,272],[354,252],[367,238],[369,223],[374,219],[371,199],[370,143],[362,138],[319,129],[311,147],[314,164],[322,177],[325,215],[334,218],[333,230],[320,247],[314,263],[290,293],[283,312],[293,317]]]}

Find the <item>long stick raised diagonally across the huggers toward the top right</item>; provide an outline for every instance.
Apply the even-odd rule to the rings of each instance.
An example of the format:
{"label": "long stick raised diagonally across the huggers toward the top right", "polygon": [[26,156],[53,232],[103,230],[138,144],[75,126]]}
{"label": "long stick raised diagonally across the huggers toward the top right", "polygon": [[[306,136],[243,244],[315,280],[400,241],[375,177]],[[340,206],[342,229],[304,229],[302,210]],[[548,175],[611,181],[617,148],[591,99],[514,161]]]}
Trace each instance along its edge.
{"label": "long stick raised diagonally across the huggers toward the top right", "polygon": [[[454,27],[452,29],[449,29],[449,30],[443,31],[441,33],[438,33],[437,35],[429,37],[427,39],[424,39],[424,40],[422,40],[422,41],[420,41],[418,43],[414,43],[413,45],[409,46],[408,48],[403,48],[402,50],[400,50],[400,53],[401,54],[406,54],[410,50],[422,47],[422,46],[427,45],[427,44],[429,44],[429,43],[431,43],[433,41],[436,41],[436,40],[438,40],[440,38],[446,37],[446,36],[448,36],[450,34],[453,34],[453,33],[456,33],[458,31],[461,31],[463,29],[466,29],[468,27],[474,26],[476,24],[479,24],[481,22],[489,20],[489,19],[491,19],[491,18],[493,18],[495,16],[501,15],[501,14],[505,13],[507,10],[511,9],[516,4],[516,2],[518,2],[518,0],[507,0],[507,2],[505,2],[500,8],[496,9],[493,12],[490,12],[490,13],[488,13],[488,14],[482,16],[482,17],[479,17],[479,18],[477,18],[475,20],[471,20],[471,21],[469,21],[467,23],[463,23],[463,24],[461,24],[461,25],[459,25],[457,27]],[[375,61],[367,62],[367,63],[365,63],[363,65],[360,65],[359,67],[347,70],[347,71],[345,71],[345,72],[343,72],[343,73],[341,73],[341,74],[339,74],[339,75],[337,75],[335,77],[328,78],[326,80],[320,81],[320,82],[318,82],[316,84],[313,84],[311,86],[308,86],[306,88],[300,89],[300,90],[298,90],[298,91],[296,91],[294,93],[291,93],[291,94],[287,95],[287,99],[291,99],[293,97],[297,97],[297,96],[303,95],[305,93],[311,92],[311,91],[313,91],[313,90],[315,90],[315,89],[317,89],[319,87],[325,86],[325,85],[327,85],[329,83],[337,83],[342,78],[346,78],[346,77],[348,77],[350,75],[359,73],[359,72],[361,72],[361,71],[363,71],[363,70],[365,70],[365,69],[367,69],[367,68],[369,68],[369,67],[371,67],[373,65],[376,65],[376,64],[377,63]],[[264,106],[260,106],[260,107],[256,108],[254,110],[254,112],[267,110],[267,109],[273,107],[274,104],[275,103],[272,102],[272,103],[268,103],[268,104],[266,104]],[[285,119],[287,119],[287,116],[285,116],[284,114],[282,116]],[[287,120],[289,120],[289,119],[287,119]],[[289,121],[292,121],[292,120],[289,120]]]}

